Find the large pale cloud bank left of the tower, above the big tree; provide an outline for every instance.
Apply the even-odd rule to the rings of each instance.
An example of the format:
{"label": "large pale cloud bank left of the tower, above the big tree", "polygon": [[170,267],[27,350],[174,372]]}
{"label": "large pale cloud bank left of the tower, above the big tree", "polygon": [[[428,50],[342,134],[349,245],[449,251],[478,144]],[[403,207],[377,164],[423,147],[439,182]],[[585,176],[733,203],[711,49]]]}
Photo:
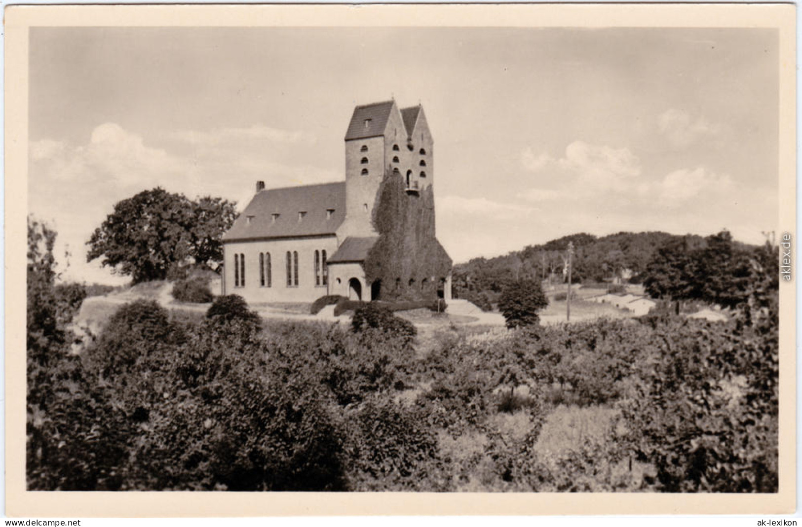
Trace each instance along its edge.
{"label": "large pale cloud bank left of the tower, above the big tree", "polygon": [[175,142],[153,146],[116,123],[95,127],[87,143],[77,146],[53,139],[30,143],[29,210],[58,231],[55,254],[62,270],[70,247],[68,277],[113,281],[96,262],[86,263],[85,243],[115,203],[139,191],[160,186],[190,198],[216,195],[237,201],[241,209],[257,179],[269,187],[342,179],[337,171],[286,161],[305,159],[302,153],[314,138],[302,133],[268,127],[183,133],[194,141],[189,149]]}

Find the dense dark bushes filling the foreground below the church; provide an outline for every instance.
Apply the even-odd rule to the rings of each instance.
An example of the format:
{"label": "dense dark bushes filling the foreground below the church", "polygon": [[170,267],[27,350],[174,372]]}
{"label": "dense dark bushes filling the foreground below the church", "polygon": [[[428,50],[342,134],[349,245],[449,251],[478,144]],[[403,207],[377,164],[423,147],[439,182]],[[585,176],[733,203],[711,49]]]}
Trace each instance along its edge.
{"label": "dense dark bushes filling the foreground below the church", "polygon": [[[238,296],[205,316],[140,300],[75,356],[80,291],[56,293],[47,250],[29,258],[32,490],[777,490],[768,279],[725,323],[444,326],[418,349],[382,303],[343,328],[261,320]],[[549,432],[552,452],[565,401],[603,430]]]}

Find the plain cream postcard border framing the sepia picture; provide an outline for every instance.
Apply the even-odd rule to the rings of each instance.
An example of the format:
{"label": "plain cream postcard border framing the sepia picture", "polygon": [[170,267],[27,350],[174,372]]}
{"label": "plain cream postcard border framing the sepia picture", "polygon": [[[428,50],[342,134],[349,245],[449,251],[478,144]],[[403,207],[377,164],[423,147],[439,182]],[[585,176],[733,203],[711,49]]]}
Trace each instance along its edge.
{"label": "plain cream postcard border framing the sepia picture", "polygon": [[[780,492],[189,493],[25,489],[28,30],[31,26],[773,27],[780,34],[778,229],[796,239],[796,11],[792,4],[8,6],[6,26],[6,514],[12,517],[756,514],[796,502],[796,277],[780,280]],[[796,272],[796,269],[794,269]]]}

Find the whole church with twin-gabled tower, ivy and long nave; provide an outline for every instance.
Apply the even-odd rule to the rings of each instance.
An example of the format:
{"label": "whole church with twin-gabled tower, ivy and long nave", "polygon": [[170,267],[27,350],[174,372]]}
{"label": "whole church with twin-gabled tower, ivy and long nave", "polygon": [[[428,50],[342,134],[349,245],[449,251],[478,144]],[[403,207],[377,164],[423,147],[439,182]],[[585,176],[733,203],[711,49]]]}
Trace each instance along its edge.
{"label": "whole church with twin-gabled tower, ivy and long nave", "polygon": [[[274,189],[257,181],[223,236],[223,294],[251,303],[450,300],[451,259],[435,238],[433,155],[420,105],[354,108],[345,181]],[[403,264],[385,261],[405,254]]]}

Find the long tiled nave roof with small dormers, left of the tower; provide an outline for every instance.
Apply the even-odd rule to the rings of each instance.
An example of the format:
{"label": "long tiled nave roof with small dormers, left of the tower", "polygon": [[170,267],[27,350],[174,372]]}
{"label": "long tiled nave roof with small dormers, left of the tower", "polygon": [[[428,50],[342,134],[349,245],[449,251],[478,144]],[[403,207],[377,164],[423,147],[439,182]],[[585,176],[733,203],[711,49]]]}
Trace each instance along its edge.
{"label": "long tiled nave roof with small dormers, left of the tower", "polygon": [[[333,210],[330,217],[328,210]],[[299,219],[299,212],[306,214]],[[334,235],[345,217],[344,181],[259,191],[223,241]]]}

